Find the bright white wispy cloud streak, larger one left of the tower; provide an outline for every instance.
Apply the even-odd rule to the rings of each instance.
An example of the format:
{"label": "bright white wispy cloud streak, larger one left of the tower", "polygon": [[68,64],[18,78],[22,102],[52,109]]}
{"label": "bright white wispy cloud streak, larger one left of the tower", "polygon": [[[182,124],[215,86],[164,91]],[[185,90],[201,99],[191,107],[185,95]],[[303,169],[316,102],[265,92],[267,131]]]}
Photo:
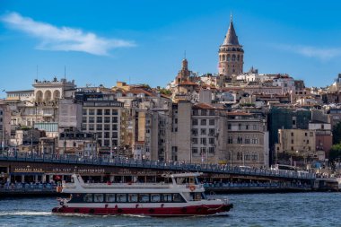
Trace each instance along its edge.
{"label": "bright white wispy cloud streak, larger one left of the tower", "polygon": [[106,56],[112,48],[134,47],[132,41],[105,39],[92,32],[68,27],[58,28],[46,22],[35,22],[19,13],[7,13],[1,17],[9,28],[25,32],[40,39],[37,48],[44,50],[81,51],[92,55]]}

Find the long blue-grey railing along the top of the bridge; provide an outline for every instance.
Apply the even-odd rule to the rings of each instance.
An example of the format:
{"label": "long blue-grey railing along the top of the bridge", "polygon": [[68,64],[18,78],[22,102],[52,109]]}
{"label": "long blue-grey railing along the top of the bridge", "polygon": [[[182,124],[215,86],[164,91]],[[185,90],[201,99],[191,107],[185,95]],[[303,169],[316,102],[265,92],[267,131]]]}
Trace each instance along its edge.
{"label": "long blue-grey railing along the top of the bridge", "polygon": [[68,164],[88,164],[101,166],[119,166],[132,168],[145,168],[156,170],[184,170],[184,171],[202,171],[211,173],[239,174],[249,176],[264,176],[287,179],[316,179],[314,173],[307,171],[294,170],[270,170],[259,168],[245,168],[231,165],[204,164],[189,162],[161,162],[149,160],[135,160],[127,158],[109,158],[109,156],[83,157],[78,155],[51,155],[51,154],[31,154],[18,153],[16,155],[3,153],[0,154],[0,160],[22,161],[22,162],[53,162]]}

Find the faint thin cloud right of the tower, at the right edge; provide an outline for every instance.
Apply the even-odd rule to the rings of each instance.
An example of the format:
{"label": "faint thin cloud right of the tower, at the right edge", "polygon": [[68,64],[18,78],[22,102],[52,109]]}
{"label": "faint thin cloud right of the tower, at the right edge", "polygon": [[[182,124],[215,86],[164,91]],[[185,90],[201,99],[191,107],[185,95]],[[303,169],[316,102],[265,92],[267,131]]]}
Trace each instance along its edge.
{"label": "faint thin cloud right of the tower, at the right edge", "polygon": [[302,45],[276,45],[276,47],[304,57],[316,57],[321,60],[341,56],[341,48],[315,48]]}

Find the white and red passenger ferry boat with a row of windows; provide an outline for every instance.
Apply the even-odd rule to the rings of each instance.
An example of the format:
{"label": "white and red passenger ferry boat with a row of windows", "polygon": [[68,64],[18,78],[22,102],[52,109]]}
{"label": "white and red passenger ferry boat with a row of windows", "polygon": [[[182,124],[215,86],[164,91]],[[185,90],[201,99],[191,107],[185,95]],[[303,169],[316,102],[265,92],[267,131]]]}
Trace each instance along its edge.
{"label": "white and red passenger ferry boat with a row of windows", "polygon": [[84,183],[73,174],[73,183],[63,182],[54,214],[138,214],[149,216],[210,215],[229,212],[227,199],[209,199],[197,177],[202,173],[162,175],[160,183]]}

